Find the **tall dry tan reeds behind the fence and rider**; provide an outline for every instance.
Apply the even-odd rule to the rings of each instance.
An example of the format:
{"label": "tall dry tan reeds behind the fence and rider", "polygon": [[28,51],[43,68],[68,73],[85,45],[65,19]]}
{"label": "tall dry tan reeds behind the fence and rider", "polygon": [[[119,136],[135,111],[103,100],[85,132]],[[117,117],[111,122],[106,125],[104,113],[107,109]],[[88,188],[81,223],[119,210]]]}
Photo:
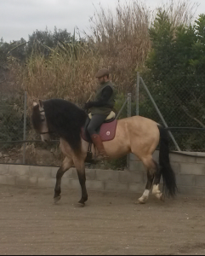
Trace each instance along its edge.
{"label": "tall dry tan reeds behind the fence and rider", "polygon": [[[160,8],[175,26],[188,25],[193,6],[189,1],[171,0]],[[95,89],[94,74],[100,67],[111,70],[111,79],[120,92],[134,91],[136,72],[145,68],[151,50],[149,27],[156,14],[157,9],[149,9],[145,2],[118,2],[114,12],[96,9],[90,20],[91,36],[85,35],[85,42],[60,42],[48,57],[35,50],[23,71],[18,71],[30,102],[64,98],[82,106]]]}

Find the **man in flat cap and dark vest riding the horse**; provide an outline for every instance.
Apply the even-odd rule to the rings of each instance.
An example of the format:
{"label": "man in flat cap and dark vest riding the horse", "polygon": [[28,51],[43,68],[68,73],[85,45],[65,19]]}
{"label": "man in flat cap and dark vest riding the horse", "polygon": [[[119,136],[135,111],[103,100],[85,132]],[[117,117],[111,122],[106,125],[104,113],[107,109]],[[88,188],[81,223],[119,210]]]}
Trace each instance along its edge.
{"label": "man in flat cap and dark vest riding the horse", "polygon": [[96,90],[94,102],[85,103],[85,108],[90,108],[90,112],[92,114],[92,119],[89,122],[87,130],[94,146],[99,151],[97,160],[105,160],[108,156],[96,130],[103,124],[106,117],[111,113],[111,110],[114,107],[114,88],[109,79],[108,69],[100,69],[98,73],[95,74],[95,77],[99,80],[100,86]]}

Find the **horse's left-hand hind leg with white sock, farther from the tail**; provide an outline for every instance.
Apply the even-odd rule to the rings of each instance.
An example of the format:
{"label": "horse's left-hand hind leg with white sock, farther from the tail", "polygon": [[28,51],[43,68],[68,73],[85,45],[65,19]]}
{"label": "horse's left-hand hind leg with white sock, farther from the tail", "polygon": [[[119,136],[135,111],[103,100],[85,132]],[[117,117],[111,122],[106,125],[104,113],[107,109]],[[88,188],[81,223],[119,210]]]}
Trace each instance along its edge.
{"label": "horse's left-hand hind leg with white sock, farther from the tail", "polygon": [[142,159],[143,164],[145,165],[147,172],[147,183],[145,186],[145,191],[143,195],[138,199],[141,204],[145,204],[150,195],[151,186],[154,180],[154,177],[157,173],[157,163],[152,159],[152,157]]}

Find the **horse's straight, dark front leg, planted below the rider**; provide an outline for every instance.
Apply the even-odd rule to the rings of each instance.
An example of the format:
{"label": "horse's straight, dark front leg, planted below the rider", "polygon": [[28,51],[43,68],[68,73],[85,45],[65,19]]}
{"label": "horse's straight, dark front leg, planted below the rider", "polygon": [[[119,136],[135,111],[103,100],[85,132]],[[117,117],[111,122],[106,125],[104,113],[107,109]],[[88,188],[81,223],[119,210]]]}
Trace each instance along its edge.
{"label": "horse's straight, dark front leg, planted below the rider", "polygon": [[81,200],[78,201],[79,204],[84,205],[85,202],[88,200],[88,193],[87,193],[87,189],[86,189],[86,177],[85,177],[85,164],[84,164],[84,160],[73,160],[74,161],[74,165],[77,168],[77,176],[79,179],[79,183],[81,185],[81,189],[82,189],[82,197]]}

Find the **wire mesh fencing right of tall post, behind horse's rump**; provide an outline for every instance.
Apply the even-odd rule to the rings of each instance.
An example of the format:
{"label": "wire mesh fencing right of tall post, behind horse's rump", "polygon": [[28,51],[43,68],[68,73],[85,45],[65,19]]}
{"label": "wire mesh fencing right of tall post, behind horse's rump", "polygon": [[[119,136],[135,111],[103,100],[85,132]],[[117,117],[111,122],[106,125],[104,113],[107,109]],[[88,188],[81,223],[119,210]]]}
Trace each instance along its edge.
{"label": "wire mesh fencing right of tall post, behind horse's rump", "polygon": [[[179,148],[183,151],[205,151],[205,75],[202,73],[163,76],[154,80],[144,76],[143,80],[151,92]],[[140,84],[140,115],[162,124],[145,88]],[[163,125],[163,124],[162,124]],[[185,129],[185,128],[200,128]],[[171,149],[176,150],[171,142]]]}

